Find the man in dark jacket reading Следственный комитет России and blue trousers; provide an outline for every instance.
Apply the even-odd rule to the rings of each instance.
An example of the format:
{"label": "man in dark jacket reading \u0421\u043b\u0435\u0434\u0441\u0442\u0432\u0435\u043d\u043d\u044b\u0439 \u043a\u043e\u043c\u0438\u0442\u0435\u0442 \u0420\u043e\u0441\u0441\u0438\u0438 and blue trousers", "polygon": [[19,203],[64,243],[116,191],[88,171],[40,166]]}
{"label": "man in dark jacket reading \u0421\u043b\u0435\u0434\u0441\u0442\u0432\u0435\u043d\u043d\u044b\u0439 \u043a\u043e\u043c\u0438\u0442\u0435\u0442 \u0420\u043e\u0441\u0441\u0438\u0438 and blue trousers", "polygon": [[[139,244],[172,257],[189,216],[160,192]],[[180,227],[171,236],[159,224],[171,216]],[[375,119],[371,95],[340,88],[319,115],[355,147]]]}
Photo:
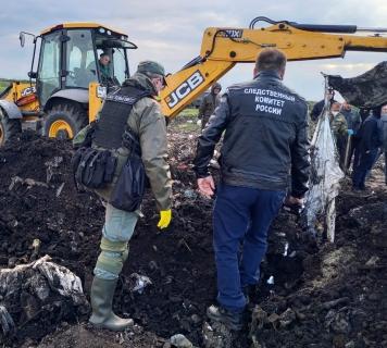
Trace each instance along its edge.
{"label": "man in dark jacket reading \u0421\u043b\u0435\u0434\u0441\u0442\u0432\u0435\u043d\u043d\u044b\u0439 \u043a\u043e\u043c\u0438\u0442\u0435\u0442 \u0420\u043e\u0441\u0441\u0438\u0438 and blue trousers", "polygon": [[257,58],[254,79],[227,89],[198,140],[194,162],[198,186],[212,197],[215,185],[208,166],[225,130],[213,237],[220,307],[211,306],[208,315],[232,330],[242,326],[245,294],[259,282],[267,231],[289,178],[289,204],[302,204],[308,190],[308,107],[283,85],[285,65],[284,53],[263,50]]}

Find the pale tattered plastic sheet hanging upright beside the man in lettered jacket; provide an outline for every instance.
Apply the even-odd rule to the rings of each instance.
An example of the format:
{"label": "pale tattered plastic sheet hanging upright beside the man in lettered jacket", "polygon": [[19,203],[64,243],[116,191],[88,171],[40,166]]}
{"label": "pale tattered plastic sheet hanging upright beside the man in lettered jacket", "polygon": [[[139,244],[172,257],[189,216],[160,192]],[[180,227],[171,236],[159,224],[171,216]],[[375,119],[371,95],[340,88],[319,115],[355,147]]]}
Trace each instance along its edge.
{"label": "pale tattered plastic sheet hanging upright beside the man in lettered jacket", "polygon": [[313,236],[323,231],[329,241],[335,239],[335,199],[339,181],[345,176],[339,166],[338,152],[329,126],[328,111],[320,116],[311,144],[311,175],[305,209],[302,212],[303,227]]}

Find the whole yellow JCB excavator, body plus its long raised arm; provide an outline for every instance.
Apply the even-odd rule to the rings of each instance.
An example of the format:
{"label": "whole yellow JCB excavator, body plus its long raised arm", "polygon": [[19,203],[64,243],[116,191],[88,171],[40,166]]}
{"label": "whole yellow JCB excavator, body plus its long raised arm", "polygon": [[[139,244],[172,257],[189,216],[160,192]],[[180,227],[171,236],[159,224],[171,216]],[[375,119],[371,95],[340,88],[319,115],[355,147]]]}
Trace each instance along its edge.
{"label": "whole yellow JCB excavator, body plus its long raised arm", "polygon": [[[367,32],[371,35],[364,34]],[[288,61],[342,58],[347,51],[386,52],[385,32],[266,17],[255,17],[249,28],[207,28],[200,55],[166,76],[167,86],[160,96],[163,113],[177,115],[236,63],[254,62],[264,48],[282,50]],[[21,33],[22,46],[27,35],[32,34]],[[64,23],[33,37],[30,83],[12,83],[0,95],[0,145],[21,132],[25,122],[35,123],[43,135],[72,138],[95,120],[109,88],[129,76],[128,50],[137,48],[125,34],[97,23]],[[40,53],[35,67],[38,41]],[[108,80],[99,66],[101,53],[111,61]]]}

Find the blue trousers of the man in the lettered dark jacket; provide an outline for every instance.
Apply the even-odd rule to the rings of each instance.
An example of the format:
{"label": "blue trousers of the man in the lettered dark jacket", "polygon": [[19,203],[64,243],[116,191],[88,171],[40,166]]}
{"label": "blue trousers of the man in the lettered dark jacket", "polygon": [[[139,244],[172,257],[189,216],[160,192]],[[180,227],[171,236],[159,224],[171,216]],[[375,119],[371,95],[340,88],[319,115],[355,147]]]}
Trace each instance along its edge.
{"label": "blue trousers of the man in the lettered dark jacket", "polygon": [[[221,185],[214,207],[214,251],[217,301],[241,311],[241,288],[257,284],[260,263],[267,248],[267,232],[285,198],[285,191]],[[240,262],[239,247],[242,244]]]}

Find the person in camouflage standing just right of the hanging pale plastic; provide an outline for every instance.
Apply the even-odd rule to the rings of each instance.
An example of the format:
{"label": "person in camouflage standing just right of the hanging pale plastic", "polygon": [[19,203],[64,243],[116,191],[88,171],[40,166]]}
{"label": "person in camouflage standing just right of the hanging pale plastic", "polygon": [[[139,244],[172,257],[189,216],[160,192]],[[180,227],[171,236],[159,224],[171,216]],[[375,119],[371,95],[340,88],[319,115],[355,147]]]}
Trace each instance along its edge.
{"label": "person in camouflage standing just right of the hanging pale plastic", "polygon": [[341,104],[337,101],[332,104],[329,124],[336,140],[336,147],[340,158],[340,167],[344,170],[348,125],[346,117],[340,113],[340,107]]}

